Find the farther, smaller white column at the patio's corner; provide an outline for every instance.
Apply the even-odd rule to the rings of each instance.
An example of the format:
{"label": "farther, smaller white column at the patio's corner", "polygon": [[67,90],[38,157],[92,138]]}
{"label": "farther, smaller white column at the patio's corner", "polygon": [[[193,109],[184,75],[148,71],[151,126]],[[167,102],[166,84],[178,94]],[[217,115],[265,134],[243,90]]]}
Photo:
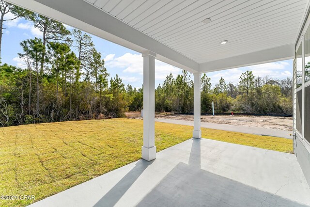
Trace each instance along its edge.
{"label": "farther, smaller white column at the patio's corner", "polygon": [[193,73],[194,75],[194,131],[193,138],[202,138],[202,130],[200,128],[201,115],[201,73]]}

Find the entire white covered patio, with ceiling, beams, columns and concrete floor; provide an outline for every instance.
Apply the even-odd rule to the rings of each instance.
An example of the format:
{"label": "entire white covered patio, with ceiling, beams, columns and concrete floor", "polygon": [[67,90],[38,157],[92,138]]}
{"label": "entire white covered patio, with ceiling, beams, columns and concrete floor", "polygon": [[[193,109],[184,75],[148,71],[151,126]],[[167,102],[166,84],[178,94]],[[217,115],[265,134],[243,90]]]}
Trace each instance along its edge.
{"label": "entire white covered patio, with ceiling, beams, columns and concrete floor", "polygon": [[[142,159],[32,206],[310,205],[310,145],[300,148],[306,141],[298,140],[300,166],[293,154],[201,139],[200,117],[201,74],[293,59],[309,22],[309,0],[8,1],[144,60]],[[194,76],[193,139],[159,153],[155,59]]]}

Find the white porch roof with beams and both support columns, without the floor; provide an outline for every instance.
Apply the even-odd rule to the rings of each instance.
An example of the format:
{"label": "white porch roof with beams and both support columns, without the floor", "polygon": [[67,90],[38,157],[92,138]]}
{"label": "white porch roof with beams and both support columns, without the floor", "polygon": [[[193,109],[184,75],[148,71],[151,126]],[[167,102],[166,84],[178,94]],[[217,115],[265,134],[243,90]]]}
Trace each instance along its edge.
{"label": "white porch roof with beams and both support columns, without the floor", "polygon": [[156,159],[155,59],[194,76],[193,138],[201,138],[201,74],[294,58],[308,0],[8,0],[133,49],[143,57],[142,159]]}

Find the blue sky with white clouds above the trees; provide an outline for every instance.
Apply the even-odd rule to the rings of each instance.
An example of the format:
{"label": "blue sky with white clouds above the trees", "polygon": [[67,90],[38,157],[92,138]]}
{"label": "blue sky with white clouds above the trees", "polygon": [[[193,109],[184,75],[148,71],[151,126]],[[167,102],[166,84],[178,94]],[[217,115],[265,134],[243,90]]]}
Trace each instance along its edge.
{"label": "blue sky with white clouds above the trees", "polygon": [[[6,18],[11,17],[11,14],[6,16]],[[8,29],[4,30],[2,37],[1,61],[2,63],[23,68],[25,65],[17,55],[18,52],[22,52],[19,43],[25,39],[41,37],[42,34],[33,27],[30,21],[22,18],[7,21],[4,26]],[[73,29],[69,26],[67,28],[69,30]],[[105,59],[110,77],[115,77],[118,74],[125,84],[140,88],[143,83],[143,59],[141,54],[93,35],[92,38],[95,48],[101,52],[102,57]],[[229,81],[238,83],[241,73],[247,70],[252,70],[256,77],[269,75],[270,78],[285,79],[286,77],[292,77],[292,60],[210,72],[207,73],[207,76],[211,78],[212,86],[218,83],[221,77],[227,83]],[[182,70],[156,60],[155,86],[161,84],[170,73],[176,77],[177,74],[182,73]]]}

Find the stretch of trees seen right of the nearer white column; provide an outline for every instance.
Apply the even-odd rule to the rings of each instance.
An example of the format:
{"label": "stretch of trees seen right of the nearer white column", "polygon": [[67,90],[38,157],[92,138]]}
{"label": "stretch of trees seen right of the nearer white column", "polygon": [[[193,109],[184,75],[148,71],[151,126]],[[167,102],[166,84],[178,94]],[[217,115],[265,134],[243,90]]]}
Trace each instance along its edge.
{"label": "stretch of trees seen right of the nearer white column", "polygon": [[[167,76],[155,91],[155,110],[177,113],[193,112],[194,83],[189,74],[173,78]],[[201,78],[201,112],[211,113],[214,102],[216,113],[242,112],[259,114],[292,114],[292,79],[283,80],[255,77],[246,71],[239,82],[226,83],[223,78],[212,87],[206,74]]]}

